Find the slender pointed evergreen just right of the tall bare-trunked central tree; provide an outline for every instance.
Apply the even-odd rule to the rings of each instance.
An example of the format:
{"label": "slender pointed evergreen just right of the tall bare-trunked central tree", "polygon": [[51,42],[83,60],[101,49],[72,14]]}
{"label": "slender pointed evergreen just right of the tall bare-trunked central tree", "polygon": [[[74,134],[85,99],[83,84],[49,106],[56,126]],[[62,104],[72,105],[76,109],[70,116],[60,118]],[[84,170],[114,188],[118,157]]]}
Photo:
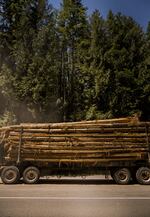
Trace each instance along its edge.
{"label": "slender pointed evergreen just right of the tall bare-trunked central tree", "polygon": [[[98,111],[99,104],[101,110],[104,108],[103,96],[105,82],[102,78],[104,67],[104,54],[107,50],[107,32],[105,21],[100,16],[99,11],[95,11],[90,18],[90,34],[85,47],[83,47],[83,57],[80,58],[80,69],[82,71],[82,83],[84,108],[82,108],[83,117],[86,119],[102,118],[101,111]],[[87,49],[88,48],[88,49]],[[101,88],[103,91],[101,92]],[[105,98],[106,96],[103,96]],[[101,102],[100,102],[101,101]],[[103,112],[102,112],[103,113]]]}

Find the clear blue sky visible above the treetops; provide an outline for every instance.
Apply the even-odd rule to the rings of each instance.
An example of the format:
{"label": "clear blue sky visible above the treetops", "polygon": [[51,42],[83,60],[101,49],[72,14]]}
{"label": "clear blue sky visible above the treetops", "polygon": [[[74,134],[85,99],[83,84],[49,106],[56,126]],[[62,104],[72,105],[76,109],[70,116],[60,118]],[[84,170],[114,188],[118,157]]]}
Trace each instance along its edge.
{"label": "clear blue sky visible above the treetops", "polygon": [[[62,0],[49,1],[55,8],[59,8],[62,2]],[[99,9],[103,18],[106,18],[109,10],[114,13],[121,12],[131,16],[144,29],[150,21],[150,0],[82,0],[82,3],[88,8],[88,14]]]}

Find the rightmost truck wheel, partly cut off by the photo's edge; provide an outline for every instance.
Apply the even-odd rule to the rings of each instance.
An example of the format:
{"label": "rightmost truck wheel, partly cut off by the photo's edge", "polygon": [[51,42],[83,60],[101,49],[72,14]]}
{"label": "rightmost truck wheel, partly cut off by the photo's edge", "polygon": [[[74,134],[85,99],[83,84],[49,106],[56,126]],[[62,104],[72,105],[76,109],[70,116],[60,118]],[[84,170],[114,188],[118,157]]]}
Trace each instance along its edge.
{"label": "rightmost truck wheel, partly cut off by the photo's edge", "polygon": [[136,172],[136,179],[139,184],[150,184],[150,169],[148,167],[140,167]]}

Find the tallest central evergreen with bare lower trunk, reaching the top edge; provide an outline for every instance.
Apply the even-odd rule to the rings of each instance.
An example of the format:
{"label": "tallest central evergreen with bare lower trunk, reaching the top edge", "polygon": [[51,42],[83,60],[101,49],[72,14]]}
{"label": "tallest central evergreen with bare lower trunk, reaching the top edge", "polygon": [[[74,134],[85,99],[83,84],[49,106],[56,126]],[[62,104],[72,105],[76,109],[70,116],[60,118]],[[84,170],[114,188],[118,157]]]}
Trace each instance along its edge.
{"label": "tallest central evergreen with bare lower trunk, reaching the top edge", "polygon": [[[81,0],[64,0],[59,14],[59,32],[62,50],[61,78],[64,120],[75,119],[78,83],[78,48],[87,32],[86,9]],[[61,82],[61,83],[62,83]]]}

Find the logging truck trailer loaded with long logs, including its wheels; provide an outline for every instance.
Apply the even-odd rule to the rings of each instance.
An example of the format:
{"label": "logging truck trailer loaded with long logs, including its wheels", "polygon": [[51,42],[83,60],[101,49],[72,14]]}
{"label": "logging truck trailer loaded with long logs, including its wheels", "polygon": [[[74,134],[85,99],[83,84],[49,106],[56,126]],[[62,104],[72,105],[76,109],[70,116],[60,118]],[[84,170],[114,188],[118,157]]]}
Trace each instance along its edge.
{"label": "logging truck trailer loaded with long logs, including its wheels", "polygon": [[24,123],[0,128],[0,176],[34,184],[42,176],[109,174],[150,184],[150,122],[120,118]]}

